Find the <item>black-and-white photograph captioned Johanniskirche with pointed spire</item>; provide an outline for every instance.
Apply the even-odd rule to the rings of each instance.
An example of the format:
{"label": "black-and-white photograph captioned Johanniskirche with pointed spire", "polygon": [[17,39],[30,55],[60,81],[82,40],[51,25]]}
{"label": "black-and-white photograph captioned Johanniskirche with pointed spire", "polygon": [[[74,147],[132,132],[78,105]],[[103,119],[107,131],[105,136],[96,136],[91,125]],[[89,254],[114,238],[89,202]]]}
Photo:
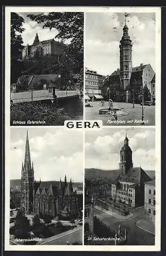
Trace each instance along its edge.
{"label": "black-and-white photograph captioned Johanniskirche with pointed spire", "polygon": [[10,245],[82,245],[82,133],[13,127],[10,156]]}

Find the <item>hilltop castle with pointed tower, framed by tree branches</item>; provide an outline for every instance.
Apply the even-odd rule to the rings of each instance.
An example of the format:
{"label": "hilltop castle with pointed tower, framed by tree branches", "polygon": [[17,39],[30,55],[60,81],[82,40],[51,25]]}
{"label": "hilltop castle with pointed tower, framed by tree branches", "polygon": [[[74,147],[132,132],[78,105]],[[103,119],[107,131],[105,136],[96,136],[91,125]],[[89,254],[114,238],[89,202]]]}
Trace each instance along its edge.
{"label": "hilltop castle with pointed tower, framed by tree branches", "polygon": [[48,39],[39,41],[38,33],[36,33],[34,42],[32,45],[27,44],[22,50],[22,59],[38,56],[51,56],[60,55],[65,51],[65,45],[55,41],[54,39]]}

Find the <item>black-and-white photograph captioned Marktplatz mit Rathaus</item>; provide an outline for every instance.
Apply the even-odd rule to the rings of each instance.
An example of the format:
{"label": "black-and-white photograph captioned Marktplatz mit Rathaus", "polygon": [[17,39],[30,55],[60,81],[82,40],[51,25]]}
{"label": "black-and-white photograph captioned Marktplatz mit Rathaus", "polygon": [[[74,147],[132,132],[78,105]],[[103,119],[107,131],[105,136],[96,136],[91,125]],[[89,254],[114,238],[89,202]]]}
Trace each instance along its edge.
{"label": "black-and-white photograph captioned Marktplatz mit Rathaus", "polygon": [[87,120],[100,118],[103,125],[155,125],[155,15],[86,13]]}

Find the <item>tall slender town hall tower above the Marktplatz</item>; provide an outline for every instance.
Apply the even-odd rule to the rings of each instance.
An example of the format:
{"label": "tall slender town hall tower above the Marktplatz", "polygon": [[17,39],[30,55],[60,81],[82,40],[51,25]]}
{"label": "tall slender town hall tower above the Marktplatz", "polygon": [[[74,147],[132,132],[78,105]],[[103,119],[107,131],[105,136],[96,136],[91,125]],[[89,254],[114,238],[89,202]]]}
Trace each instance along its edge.
{"label": "tall slender town hall tower above the Marktplatz", "polygon": [[123,36],[120,40],[120,78],[122,82],[122,89],[126,90],[129,86],[130,76],[132,73],[132,44],[130,36],[128,35],[128,27],[125,25],[123,28]]}

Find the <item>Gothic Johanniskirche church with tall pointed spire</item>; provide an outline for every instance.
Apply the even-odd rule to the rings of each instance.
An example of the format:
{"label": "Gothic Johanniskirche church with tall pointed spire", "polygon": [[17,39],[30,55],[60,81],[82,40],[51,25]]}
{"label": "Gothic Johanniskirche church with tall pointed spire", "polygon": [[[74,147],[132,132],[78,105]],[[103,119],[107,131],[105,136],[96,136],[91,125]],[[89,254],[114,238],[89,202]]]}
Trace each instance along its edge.
{"label": "Gothic Johanniskirche church with tall pointed spire", "polygon": [[34,165],[31,164],[29,136],[26,134],[25,158],[21,170],[21,211],[25,215],[39,214],[62,218],[78,215],[77,193],[72,181],[42,182],[34,180]]}

